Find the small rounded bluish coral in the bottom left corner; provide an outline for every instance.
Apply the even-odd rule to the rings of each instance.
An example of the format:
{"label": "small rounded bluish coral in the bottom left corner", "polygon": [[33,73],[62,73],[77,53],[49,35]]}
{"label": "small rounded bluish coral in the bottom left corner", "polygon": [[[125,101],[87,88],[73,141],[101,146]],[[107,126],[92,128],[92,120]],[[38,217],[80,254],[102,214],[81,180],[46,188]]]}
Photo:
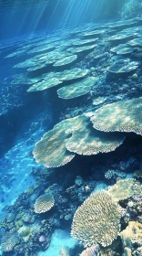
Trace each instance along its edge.
{"label": "small rounded bluish coral in the bottom left corner", "polygon": [[1,248],[2,251],[13,251],[15,245],[19,242],[18,236],[15,232],[7,232],[2,239]]}

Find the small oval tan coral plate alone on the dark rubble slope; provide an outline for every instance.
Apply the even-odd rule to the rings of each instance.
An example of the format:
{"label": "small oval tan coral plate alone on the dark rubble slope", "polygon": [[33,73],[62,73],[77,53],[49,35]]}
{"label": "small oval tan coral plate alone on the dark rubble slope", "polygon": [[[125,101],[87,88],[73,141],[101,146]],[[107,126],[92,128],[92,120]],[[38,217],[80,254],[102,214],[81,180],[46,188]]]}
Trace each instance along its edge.
{"label": "small oval tan coral plate alone on the dark rubble slope", "polygon": [[35,201],[35,213],[43,213],[52,208],[55,204],[55,199],[51,192],[48,191],[45,195],[38,197]]}

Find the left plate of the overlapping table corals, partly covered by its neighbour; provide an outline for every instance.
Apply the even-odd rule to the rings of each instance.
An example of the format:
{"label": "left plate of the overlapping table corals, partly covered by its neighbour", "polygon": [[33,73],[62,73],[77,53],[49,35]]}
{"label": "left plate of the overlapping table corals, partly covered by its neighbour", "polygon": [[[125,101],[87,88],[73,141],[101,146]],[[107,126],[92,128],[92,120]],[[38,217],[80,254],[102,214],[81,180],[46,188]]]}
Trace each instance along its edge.
{"label": "left plate of the overlapping table corals, partly covered by its neighbour", "polygon": [[[39,142],[35,144],[33,155],[37,163],[46,167],[58,167],[70,162],[75,154],[67,151],[65,141],[68,138],[66,126],[70,121],[56,124],[53,130],[44,134]],[[68,128],[70,126],[68,125]]]}

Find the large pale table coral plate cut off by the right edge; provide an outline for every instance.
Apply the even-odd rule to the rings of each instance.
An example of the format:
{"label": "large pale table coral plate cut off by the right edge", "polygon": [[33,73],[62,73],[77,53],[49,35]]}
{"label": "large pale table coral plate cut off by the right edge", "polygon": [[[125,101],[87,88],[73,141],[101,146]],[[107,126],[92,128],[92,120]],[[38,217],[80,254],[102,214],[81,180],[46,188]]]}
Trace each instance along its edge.
{"label": "large pale table coral plate cut off by the right edge", "polygon": [[94,128],[104,132],[142,134],[142,97],[107,104],[91,118]]}

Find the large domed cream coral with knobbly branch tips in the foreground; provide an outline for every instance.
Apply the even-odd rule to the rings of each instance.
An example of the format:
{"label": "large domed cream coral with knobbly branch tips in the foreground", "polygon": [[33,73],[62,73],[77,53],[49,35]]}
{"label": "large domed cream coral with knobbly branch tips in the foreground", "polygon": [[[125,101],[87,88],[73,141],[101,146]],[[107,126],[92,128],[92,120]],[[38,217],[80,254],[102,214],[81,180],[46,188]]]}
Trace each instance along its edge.
{"label": "large domed cream coral with knobbly branch tips in the foreground", "polygon": [[[120,209],[106,191],[88,197],[76,209],[71,235],[85,247],[101,244],[106,247],[117,238]],[[111,230],[111,232],[110,232]]]}

